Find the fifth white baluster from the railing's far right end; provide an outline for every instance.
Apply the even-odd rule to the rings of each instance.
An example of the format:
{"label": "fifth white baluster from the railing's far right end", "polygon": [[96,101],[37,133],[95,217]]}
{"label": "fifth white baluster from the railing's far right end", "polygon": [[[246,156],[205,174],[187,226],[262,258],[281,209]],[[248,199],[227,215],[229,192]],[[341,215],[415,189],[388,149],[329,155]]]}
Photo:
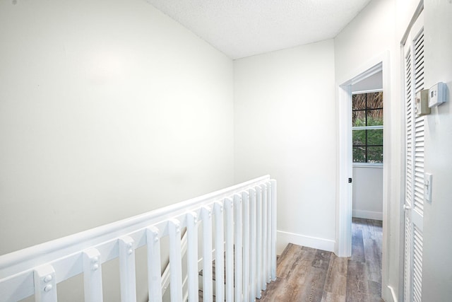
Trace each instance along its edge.
{"label": "fifth white baluster from the railing's far right end", "polygon": [[256,301],[256,190],[249,191],[249,218],[250,218],[250,263],[249,263],[249,300]]}

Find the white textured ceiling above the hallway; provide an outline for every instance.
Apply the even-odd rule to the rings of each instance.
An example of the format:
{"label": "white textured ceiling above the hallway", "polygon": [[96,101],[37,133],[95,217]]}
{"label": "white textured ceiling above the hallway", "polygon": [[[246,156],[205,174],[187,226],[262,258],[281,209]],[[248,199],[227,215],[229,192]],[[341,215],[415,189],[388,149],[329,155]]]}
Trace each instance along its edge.
{"label": "white textured ceiling above the hallway", "polygon": [[370,0],[146,0],[232,59],[338,35]]}

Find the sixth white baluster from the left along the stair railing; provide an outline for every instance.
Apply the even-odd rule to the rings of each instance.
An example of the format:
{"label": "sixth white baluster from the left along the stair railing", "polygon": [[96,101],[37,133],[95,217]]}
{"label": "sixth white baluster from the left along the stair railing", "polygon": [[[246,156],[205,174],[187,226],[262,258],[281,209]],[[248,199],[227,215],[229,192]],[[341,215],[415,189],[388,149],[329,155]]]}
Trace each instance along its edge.
{"label": "sixth white baluster from the left along the stair railing", "polygon": [[189,301],[198,302],[198,215],[186,215],[187,228],[187,274],[189,282]]}

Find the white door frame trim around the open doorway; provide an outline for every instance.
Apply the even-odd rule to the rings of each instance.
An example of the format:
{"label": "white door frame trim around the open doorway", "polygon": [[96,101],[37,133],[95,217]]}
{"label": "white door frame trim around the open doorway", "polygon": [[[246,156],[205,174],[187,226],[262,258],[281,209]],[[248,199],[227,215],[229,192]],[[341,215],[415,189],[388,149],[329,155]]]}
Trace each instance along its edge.
{"label": "white door frame trim around the open doorway", "polygon": [[[369,60],[367,64],[364,64],[362,68],[350,74],[350,77],[346,81],[339,82],[338,84],[338,103],[336,104],[337,120],[338,120],[338,169],[337,169],[337,233],[336,233],[336,252],[340,257],[350,257],[352,255],[352,182],[353,182],[353,170],[352,170],[352,90],[353,86],[357,83],[364,83],[365,80],[371,79],[376,74],[381,74],[381,87],[383,95],[383,145],[389,144],[389,132],[390,129],[390,112],[388,112],[389,106],[389,89],[390,79],[389,74],[386,72],[389,66],[389,53],[384,52],[378,57]],[[386,104],[386,105],[385,105]],[[388,207],[388,169],[391,161],[388,149],[383,149],[383,204],[382,204],[382,220],[387,221],[387,207]],[[383,223],[383,240],[382,240],[382,281],[386,280],[385,274],[388,272],[387,259],[388,250],[387,243],[387,223]],[[382,284],[384,286],[384,284]]]}

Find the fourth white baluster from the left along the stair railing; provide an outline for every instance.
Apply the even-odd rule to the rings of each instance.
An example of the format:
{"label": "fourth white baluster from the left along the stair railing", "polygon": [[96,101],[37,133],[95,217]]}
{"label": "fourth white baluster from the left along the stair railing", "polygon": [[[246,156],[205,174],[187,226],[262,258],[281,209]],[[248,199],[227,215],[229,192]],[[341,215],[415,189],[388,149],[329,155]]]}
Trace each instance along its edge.
{"label": "fourth white baluster from the left along the stair railing", "polygon": [[148,243],[148,295],[149,301],[162,301],[162,265],[160,264],[159,229],[151,226],[146,230]]}

